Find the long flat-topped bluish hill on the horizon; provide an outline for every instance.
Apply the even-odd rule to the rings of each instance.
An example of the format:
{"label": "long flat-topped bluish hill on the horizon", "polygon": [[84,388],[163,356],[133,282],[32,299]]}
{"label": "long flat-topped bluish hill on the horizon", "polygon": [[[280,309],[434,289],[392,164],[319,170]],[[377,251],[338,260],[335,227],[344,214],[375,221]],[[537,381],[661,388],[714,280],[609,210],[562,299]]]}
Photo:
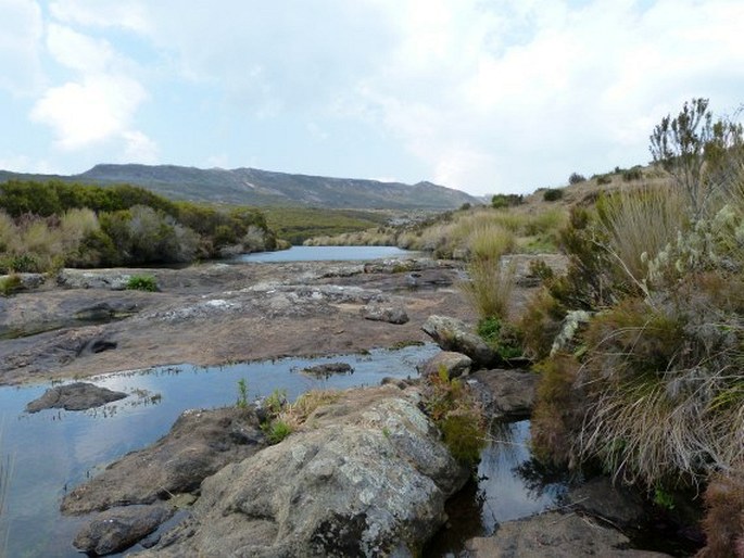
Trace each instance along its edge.
{"label": "long flat-topped bluish hill on the horizon", "polygon": [[260,206],[449,210],[476,198],[431,182],[405,185],[352,178],[292,175],[256,168],[194,168],[175,165],[96,165],[79,175],[27,175],[0,170],[9,179],[60,179],[93,185],[130,183],[175,200]]}

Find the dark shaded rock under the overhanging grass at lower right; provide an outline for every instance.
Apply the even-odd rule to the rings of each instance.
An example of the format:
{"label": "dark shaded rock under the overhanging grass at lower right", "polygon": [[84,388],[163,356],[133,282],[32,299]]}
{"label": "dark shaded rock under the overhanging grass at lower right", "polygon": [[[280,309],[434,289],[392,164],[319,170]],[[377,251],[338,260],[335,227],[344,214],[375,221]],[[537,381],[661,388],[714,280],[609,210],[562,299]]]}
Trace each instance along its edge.
{"label": "dark shaded rock under the overhanging grass at lower right", "polygon": [[641,497],[606,477],[598,477],[571,489],[566,502],[573,509],[598,517],[620,528],[639,528],[646,518]]}

